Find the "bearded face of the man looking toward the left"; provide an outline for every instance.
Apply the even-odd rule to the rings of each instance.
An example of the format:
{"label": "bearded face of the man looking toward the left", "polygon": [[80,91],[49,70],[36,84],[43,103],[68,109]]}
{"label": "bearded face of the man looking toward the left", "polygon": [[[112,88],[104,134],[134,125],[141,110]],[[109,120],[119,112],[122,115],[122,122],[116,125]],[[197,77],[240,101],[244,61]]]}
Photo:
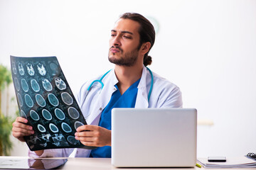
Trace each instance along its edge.
{"label": "bearded face of the man looking toward the left", "polygon": [[119,19],[111,30],[110,62],[133,66],[139,55],[139,23],[130,19]]}

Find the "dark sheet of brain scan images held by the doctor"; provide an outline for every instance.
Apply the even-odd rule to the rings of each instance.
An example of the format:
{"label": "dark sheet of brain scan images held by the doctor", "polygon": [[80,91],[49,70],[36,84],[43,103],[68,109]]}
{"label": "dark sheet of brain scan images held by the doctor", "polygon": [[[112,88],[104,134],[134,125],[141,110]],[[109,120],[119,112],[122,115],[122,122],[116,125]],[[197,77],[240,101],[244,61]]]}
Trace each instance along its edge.
{"label": "dark sheet of brain scan images held by the doctor", "polygon": [[25,137],[31,151],[83,147],[75,140],[85,118],[56,57],[11,56],[11,74],[20,115],[35,133]]}

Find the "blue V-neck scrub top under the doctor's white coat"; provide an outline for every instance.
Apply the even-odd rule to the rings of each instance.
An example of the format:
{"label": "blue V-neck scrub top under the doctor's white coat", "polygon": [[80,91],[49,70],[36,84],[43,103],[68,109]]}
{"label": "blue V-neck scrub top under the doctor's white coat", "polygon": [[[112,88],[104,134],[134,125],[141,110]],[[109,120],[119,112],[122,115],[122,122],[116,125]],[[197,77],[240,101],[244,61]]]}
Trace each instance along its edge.
{"label": "blue V-neck scrub top under the doctor's white coat", "polygon": [[[117,88],[117,91],[114,91],[110,102],[107,104],[106,108],[102,111],[100,116],[99,126],[111,130],[111,111],[112,108],[134,108],[138,93],[139,80],[137,80],[132,86],[129,86],[127,91],[124,91],[124,94],[120,94],[120,91],[117,85],[114,85]],[[108,157],[111,158],[111,147],[97,147],[92,149],[90,157]]]}

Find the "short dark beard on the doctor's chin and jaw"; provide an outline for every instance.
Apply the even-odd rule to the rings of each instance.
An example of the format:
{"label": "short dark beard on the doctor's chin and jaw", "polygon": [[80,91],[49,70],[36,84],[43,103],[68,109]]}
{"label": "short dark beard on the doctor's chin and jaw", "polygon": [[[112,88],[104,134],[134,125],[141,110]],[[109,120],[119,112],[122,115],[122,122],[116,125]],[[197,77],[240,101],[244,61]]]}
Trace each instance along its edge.
{"label": "short dark beard on the doctor's chin and jaw", "polygon": [[132,67],[134,64],[137,62],[138,55],[139,55],[139,50],[135,49],[131,52],[125,52],[123,54],[123,50],[120,47],[116,47],[117,49],[120,50],[121,56],[119,59],[115,58],[114,55],[113,57],[110,57],[109,54],[109,61],[112,62],[113,64],[117,64],[119,66],[127,66],[127,67]]}

